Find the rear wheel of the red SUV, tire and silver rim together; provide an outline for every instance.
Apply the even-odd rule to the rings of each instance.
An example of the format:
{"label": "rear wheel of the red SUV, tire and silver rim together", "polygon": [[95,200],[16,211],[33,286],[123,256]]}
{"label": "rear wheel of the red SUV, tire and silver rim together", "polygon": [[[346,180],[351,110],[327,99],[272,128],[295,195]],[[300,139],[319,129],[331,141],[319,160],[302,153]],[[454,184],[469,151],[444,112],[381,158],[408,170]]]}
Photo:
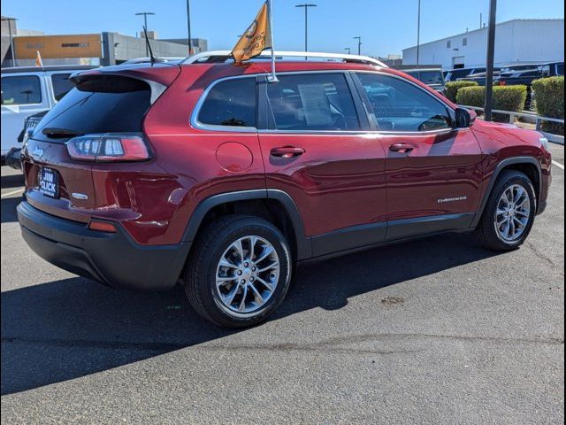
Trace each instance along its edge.
{"label": "rear wheel of the red SUV, tire and silver rim together", "polygon": [[227,328],[264,321],[291,281],[285,236],[267,220],[233,215],[199,233],[187,263],[187,297],[205,319]]}

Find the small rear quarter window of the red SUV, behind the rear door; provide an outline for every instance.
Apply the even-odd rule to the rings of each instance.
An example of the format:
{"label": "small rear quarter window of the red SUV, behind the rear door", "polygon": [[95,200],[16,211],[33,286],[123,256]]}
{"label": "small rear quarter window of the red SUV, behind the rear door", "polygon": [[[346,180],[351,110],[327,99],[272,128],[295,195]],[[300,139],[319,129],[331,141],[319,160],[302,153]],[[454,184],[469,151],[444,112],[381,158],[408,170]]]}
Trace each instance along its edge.
{"label": "small rear quarter window of the red SUV, behind the rear door", "polygon": [[198,114],[209,126],[256,127],[256,78],[221,81],[210,89]]}

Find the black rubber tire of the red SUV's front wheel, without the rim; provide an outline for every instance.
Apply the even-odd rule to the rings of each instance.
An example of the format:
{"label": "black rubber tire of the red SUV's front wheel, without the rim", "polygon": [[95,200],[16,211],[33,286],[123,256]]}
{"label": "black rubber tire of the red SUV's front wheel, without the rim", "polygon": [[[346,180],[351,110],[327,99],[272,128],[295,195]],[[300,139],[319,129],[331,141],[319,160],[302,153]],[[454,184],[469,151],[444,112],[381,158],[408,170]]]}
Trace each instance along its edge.
{"label": "black rubber tire of the red SUV's front wheel, without the rim", "polygon": [[[499,232],[496,229],[495,212],[497,204],[505,190],[515,184],[522,186],[526,190],[530,200],[530,214],[523,233],[512,241],[506,241],[499,235]],[[529,236],[529,233],[531,233],[536,208],[535,191],[529,177],[516,170],[502,171],[493,185],[492,193],[487,200],[486,208],[479,220],[478,227],[475,230],[475,235],[478,238],[478,241],[492,251],[516,250],[516,248],[524,243],[527,236]]]}

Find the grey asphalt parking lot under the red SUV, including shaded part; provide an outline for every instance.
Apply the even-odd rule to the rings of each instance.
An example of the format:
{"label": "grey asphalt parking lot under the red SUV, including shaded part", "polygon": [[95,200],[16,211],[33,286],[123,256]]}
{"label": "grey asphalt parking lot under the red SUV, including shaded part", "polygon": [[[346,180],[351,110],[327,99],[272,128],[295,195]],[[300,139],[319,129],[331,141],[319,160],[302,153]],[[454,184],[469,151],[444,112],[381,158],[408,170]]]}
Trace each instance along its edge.
{"label": "grey asphalt parking lot under the red SUV, including shaded part", "polygon": [[242,331],[200,319],[182,290],[112,290],[36,257],[3,167],[2,422],[562,423],[552,149],[562,168],[520,250],[446,235],[312,264]]}

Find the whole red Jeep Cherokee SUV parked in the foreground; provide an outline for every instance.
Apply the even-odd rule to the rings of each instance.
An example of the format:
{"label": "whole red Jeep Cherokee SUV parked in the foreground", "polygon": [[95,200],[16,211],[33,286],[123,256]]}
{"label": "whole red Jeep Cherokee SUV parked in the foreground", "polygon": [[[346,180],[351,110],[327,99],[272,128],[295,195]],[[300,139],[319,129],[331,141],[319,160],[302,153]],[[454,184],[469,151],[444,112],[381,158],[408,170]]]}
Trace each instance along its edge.
{"label": "whole red Jeep Cherokee SUV parked in the foreground", "polygon": [[546,206],[535,131],[371,58],[279,60],[275,82],[226,58],[74,74],[23,150],[31,249],[115,287],[182,282],[236,328],[273,313],[298,262],[447,231],[512,250]]}

